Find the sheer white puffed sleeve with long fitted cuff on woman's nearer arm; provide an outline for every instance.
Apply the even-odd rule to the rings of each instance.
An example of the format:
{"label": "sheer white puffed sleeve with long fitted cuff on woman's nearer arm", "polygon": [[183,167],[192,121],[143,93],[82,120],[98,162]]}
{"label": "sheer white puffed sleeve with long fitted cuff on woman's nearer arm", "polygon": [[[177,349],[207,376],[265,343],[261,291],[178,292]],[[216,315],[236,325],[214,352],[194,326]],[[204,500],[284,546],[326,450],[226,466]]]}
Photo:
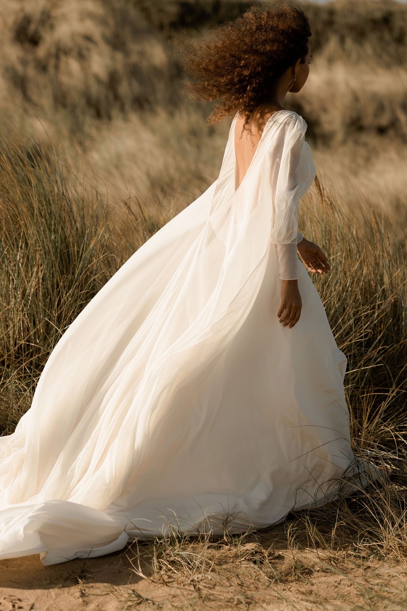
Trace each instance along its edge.
{"label": "sheer white puffed sleeve with long fitted cuff on woman's nearer arm", "polygon": [[291,115],[281,126],[273,150],[278,168],[271,240],[275,244],[279,277],[283,280],[298,277],[297,243],[303,238],[298,232],[298,201],[301,196],[298,168],[306,128],[303,117]]}

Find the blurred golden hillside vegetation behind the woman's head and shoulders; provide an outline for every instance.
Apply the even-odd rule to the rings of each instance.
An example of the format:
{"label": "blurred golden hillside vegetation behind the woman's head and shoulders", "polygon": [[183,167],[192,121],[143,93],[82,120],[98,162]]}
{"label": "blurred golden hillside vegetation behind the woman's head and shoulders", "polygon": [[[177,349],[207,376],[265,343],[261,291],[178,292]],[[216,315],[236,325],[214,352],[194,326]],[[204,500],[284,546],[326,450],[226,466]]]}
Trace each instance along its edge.
{"label": "blurred golden hillside vegetation behind the woman's head and shoulders", "polygon": [[[217,177],[229,125],[188,101],[175,38],[239,15],[234,0],[2,0],[0,117],[59,147],[112,203],[195,199]],[[312,65],[287,108],[308,123],[319,177],[345,207],[406,221],[407,5],[300,5]],[[400,225],[399,225],[400,224]],[[401,233],[398,232],[401,237]]]}

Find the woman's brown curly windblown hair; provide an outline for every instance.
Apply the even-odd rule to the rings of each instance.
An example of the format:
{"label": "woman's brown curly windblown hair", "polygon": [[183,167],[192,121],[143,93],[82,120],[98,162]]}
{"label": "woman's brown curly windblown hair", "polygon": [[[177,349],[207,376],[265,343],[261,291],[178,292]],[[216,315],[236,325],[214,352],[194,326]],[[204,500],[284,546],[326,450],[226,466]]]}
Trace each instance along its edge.
{"label": "woman's brown curly windblown hair", "polygon": [[267,103],[270,83],[300,58],[311,36],[308,18],[296,5],[256,5],[201,40],[189,40],[179,56],[191,80],[185,89],[200,100],[220,100],[207,121],[212,125],[239,112],[248,123]]}

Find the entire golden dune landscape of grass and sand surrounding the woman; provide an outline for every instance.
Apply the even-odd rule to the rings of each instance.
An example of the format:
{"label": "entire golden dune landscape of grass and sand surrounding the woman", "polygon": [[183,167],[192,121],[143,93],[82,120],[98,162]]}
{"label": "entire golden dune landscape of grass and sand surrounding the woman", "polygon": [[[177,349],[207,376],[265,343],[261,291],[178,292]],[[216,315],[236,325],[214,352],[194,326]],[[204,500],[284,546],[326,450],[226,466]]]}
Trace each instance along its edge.
{"label": "entire golden dune landscape of grass and sand surrounding the woman", "polygon": [[[0,610],[407,609],[407,4],[296,2],[312,64],[303,115],[317,178],[300,229],[345,376],[367,491],[278,527],[174,532],[103,558],[0,561]],[[217,177],[230,121],[187,100],[175,42],[234,0],[0,0],[0,432],[60,335],[149,236]]]}

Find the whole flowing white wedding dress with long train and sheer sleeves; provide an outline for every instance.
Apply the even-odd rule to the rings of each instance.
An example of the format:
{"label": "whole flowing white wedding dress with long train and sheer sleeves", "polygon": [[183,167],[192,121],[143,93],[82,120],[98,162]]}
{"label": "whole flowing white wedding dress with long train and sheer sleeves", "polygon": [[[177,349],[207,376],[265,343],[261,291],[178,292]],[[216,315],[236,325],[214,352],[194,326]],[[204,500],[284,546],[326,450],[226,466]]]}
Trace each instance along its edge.
{"label": "whole flowing white wedding dress with long train and sheer sleeves", "polygon": [[[0,438],[0,558],[258,529],[333,499],[355,471],[346,358],[296,254],[315,176],[306,122],[275,112],[240,186],[235,124],[217,180],[82,310]],[[277,312],[293,269],[289,329]]]}

